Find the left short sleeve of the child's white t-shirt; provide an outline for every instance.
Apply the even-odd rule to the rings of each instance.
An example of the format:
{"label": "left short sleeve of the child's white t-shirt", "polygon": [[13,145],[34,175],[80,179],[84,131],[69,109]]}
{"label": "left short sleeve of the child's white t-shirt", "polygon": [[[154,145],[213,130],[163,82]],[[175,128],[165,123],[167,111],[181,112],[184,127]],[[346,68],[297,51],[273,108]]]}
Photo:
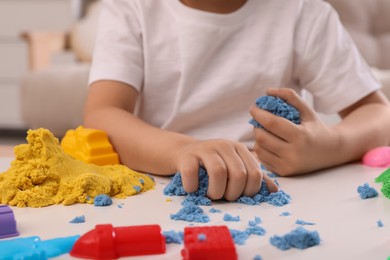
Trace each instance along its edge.
{"label": "left short sleeve of the child's white t-shirt", "polygon": [[103,0],[89,84],[115,80],[140,90],[144,75],[140,27],[133,1]]}

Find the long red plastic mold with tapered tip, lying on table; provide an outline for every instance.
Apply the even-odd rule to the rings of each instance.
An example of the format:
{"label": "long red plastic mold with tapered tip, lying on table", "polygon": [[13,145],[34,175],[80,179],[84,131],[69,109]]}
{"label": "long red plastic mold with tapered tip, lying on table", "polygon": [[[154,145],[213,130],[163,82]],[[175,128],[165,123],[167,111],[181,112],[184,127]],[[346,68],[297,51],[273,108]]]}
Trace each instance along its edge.
{"label": "long red plastic mold with tapered tip, lying on table", "polygon": [[165,237],[159,225],[113,227],[96,225],[74,244],[70,255],[92,259],[165,253]]}

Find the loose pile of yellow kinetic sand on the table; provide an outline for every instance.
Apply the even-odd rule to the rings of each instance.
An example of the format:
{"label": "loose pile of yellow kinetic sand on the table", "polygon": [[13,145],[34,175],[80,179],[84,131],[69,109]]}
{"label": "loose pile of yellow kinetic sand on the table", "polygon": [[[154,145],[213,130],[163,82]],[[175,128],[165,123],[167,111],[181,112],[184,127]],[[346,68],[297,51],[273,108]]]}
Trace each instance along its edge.
{"label": "loose pile of yellow kinetic sand on the table", "polygon": [[73,159],[47,129],[29,130],[27,141],[14,148],[11,167],[0,174],[0,204],[93,203],[99,194],[125,198],[155,185],[148,175],[124,165],[98,166]]}

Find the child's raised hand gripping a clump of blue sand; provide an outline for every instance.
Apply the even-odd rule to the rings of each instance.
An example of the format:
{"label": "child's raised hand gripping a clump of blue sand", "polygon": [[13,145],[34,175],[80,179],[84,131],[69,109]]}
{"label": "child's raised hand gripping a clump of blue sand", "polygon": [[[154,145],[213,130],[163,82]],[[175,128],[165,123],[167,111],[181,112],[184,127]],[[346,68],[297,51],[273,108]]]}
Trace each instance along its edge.
{"label": "child's raised hand gripping a clump of blue sand", "polygon": [[281,176],[289,176],[331,165],[338,150],[336,133],[320,121],[295,91],[269,89],[267,95],[280,97],[298,109],[301,124],[296,125],[256,106],[251,108],[252,117],[266,129],[254,128],[254,152],[264,166]]}

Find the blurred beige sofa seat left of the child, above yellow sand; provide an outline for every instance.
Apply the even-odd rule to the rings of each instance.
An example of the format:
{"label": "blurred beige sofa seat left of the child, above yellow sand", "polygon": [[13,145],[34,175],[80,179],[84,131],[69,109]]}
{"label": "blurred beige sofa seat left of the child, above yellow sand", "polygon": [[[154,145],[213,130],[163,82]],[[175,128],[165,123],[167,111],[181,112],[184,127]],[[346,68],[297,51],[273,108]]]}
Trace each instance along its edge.
{"label": "blurred beige sofa seat left of the child, above yellow sand", "polygon": [[22,117],[29,128],[47,128],[57,137],[83,122],[90,64],[53,66],[30,72],[21,82]]}

